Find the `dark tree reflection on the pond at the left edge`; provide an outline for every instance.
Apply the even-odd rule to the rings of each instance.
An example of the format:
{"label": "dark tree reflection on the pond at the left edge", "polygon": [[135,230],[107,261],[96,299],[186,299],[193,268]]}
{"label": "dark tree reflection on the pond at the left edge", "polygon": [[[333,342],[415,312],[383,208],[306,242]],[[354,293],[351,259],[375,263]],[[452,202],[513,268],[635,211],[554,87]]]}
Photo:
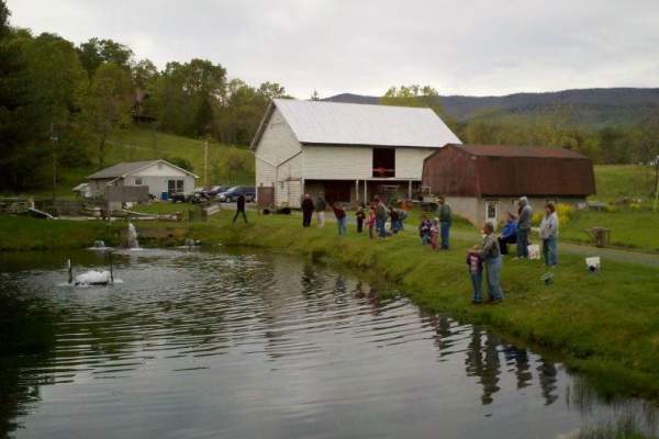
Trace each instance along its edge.
{"label": "dark tree reflection on the pond at the left edge", "polygon": [[[40,399],[37,384],[26,383],[21,371],[53,356],[55,315],[32,302],[0,291],[0,438],[15,430],[16,418]],[[53,381],[40,376],[38,384]]]}

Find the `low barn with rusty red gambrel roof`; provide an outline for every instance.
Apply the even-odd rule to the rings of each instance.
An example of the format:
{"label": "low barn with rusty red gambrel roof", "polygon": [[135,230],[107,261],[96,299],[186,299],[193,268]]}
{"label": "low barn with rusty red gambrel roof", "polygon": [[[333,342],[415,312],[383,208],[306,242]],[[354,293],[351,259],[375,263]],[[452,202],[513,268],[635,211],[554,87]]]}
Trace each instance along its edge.
{"label": "low barn with rusty red gambrel roof", "polygon": [[498,224],[520,196],[536,212],[548,201],[583,203],[595,176],[590,158],[568,149],[448,144],[424,160],[422,187],[474,224]]}

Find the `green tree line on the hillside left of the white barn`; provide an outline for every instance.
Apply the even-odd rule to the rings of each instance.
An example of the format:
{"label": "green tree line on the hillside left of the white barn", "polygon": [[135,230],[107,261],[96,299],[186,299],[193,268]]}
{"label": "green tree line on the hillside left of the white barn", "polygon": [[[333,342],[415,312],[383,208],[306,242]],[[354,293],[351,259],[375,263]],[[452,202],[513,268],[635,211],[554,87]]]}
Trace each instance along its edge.
{"label": "green tree line on the hillside left of the white barn", "polygon": [[102,168],[109,137],[133,124],[247,145],[279,83],[227,79],[206,59],[148,59],[112,40],[76,45],[12,27],[0,0],[0,190],[43,188],[59,168]]}

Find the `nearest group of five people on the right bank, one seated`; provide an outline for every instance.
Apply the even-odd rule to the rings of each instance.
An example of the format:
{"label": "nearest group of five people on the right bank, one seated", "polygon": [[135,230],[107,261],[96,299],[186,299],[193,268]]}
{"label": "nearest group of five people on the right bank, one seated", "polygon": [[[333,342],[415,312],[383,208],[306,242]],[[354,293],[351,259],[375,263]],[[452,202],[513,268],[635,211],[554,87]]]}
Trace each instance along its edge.
{"label": "nearest group of five people on the right bank, one seated", "polygon": [[[528,235],[532,228],[533,207],[526,196],[517,202],[517,213],[507,212],[506,221],[499,236],[494,235],[494,225],[487,222],[483,225],[483,241],[474,246],[467,255],[467,266],[473,285],[472,302],[480,304],[482,297],[483,269],[487,273],[489,301],[498,303],[503,300],[501,289],[501,268],[503,257],[509,255],[509,245],[516,245],[516,257],[528,258]],[[543,243],[543,259],[545,266],[554,268],[558,264],[558,214],[554,203],[545,205],[545,214],[539,228]]]}

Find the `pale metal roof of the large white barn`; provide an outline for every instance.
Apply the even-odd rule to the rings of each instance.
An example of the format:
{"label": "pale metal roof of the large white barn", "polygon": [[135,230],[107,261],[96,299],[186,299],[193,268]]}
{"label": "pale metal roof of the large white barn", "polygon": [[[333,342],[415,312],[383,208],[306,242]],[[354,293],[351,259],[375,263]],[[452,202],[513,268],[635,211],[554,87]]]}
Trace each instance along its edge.
{"label": "pale metal roof of the large white barn", "polygon": [[438,148],[460,139],[431,109],[275,99],[252,147],[277,108],[305,145],[368,145]]}

